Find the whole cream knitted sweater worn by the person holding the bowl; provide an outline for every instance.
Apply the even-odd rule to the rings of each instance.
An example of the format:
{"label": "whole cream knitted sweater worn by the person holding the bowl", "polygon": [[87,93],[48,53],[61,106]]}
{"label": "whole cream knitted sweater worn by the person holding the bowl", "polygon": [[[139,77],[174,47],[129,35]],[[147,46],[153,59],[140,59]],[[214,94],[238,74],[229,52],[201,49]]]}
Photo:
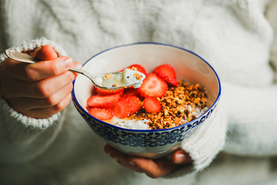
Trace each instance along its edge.
{"label": "whole cream knitted sweater worn by the person holding the bowl", "polygon": [[276,156],[276,7],[266,0],[0,1],[2,49],[51,45],[84,63],[122,44],[168,43],[203,57],[222,85],[216,113],[182,144],[193,165],[167,176],[175,179],[150,179],[116,164],[72,103],[33,119],[0,96],[0,184],[189,184],[195,179],[186,174],[205,169],[222,149]]}

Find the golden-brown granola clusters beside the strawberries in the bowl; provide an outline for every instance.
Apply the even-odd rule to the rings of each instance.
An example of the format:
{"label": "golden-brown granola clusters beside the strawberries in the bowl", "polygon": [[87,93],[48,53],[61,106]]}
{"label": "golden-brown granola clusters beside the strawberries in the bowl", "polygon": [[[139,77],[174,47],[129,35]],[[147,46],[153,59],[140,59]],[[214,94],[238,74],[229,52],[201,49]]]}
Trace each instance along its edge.
{"label": "golden-brown granola clusters beside the strawberries in the bowl", "polygon": [[178,87],[169,87],[164,96],[156,99],[161,103],[160,112],[146,112],[141,102],[141,109],[125,119],[148,119],[151,129],[172,128],[199,117],[193,113],[196,109],[207,110],[206,89],[182,80]]}

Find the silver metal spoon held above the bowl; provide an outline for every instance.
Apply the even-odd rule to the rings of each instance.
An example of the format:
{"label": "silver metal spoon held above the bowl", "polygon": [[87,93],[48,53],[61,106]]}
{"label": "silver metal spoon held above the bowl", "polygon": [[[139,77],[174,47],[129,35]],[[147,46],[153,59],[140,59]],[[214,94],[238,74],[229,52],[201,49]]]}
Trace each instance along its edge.
{"label": "silver metal spoon held above the bowl", "polygon": [[[27,54],[19,53],[19,52],[14,52],[12,50],[5,50],[5,54],[7,55],[8,58],[13,59],[15,61],[19,61],[19,62],[27,62],[27,63],[34,64],[39,61],[35,57],[32,57]],[[72,67],[68,71],[73,71],[73,72],[85,75],[86,77],[88,77],[91,80],[91,82],[95,85],[95,87],[104,89],[104,90],[125,89],[127,87],[131,87],[136,84],[136,83],[133,83],[133,84],[126,84],[126,85],[115,86],[115,87],[104,87],[104,86],[102,86],[102,80],[100,77],[95,78],[95,77],[93,77],[93,75],[91,75],[87,71],[77,69],[77,68],[72,68]],[[109,74],[116,75],[118,73],[121,73],[121,72],[115,72],[115,73],[109,73]],[[108,74],[108,73],[104,73],[102,75],[106,75],[106,74]]]}

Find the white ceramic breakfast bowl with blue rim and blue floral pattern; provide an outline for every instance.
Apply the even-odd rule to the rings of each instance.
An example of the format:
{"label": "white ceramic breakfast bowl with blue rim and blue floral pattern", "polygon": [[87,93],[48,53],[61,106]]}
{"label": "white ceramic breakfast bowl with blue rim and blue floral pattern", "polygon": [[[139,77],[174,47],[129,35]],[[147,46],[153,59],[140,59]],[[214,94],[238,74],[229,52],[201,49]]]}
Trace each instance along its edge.
{"label": "white ceramic breakfast bowl with blue rim and blue floral pattern", "polygon": [[151,130],[121,128],[88,113],[87,100],[92,96],[95,87],[83,75],[79,75],[73,82],[72,100],[90,128],[112,147],[129,155],[159,158],[178,149],[182,142],[186,142],[209,119],[221,93],[219,78],[214,69],[197,54],[161,43],[134,43],[105,50],[89,59],[83,65],[83,70],[96,76],[120,71],[133,64],[140,64],[147,73],[151,73],[159,65],[170,64],[175,69],[177,80],[205,87],[207,93],[205,112],[192,121],[172,128]]}

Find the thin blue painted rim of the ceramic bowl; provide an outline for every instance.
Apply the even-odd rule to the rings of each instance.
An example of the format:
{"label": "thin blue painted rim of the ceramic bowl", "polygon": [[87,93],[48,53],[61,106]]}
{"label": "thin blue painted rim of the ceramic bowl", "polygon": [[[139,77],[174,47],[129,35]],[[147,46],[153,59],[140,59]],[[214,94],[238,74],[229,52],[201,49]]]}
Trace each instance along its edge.
{"label": "thin blue painted rim of the ceramic bowl", "polygon": [[[197,57],[199,57],[200,59],[202,59],[211,69],[212,71],[214,71],[214,68],[207,62],[205,61],[202,57],[200,57],[198,54],[190,51],[190,50],[187,50],[187,49],[184,49],[182,47],[178,47],[178,46],[175,46],[175,45],[171,45],[171,44],[165,44],[165,43],[156,43],[156,42],[138,42],[138,43],[131,43],[131,44],[125,44],[125,45],[119,45],[119,46],[116,46],[116,47],[111,47],[109,49],[106,49],[100,53],[97,53],[95,54],[93,57],[91,57],[90,59],[88,59],[83,65],[85,65],[88,61],[90,61],[91,59],[93,59],[94,57],[96,57],[97,55],[99,54],[102,54],[103,52],[106,52],[106,51],[109,51],[109,50],[113,50],[113,49],[116,49],[116,48],[119,48],[119,47],[126,47],[126,46],[131,46],[131,45],[139,45],[139,44],[153,44],[153,45],[164,45],[164,46],[169,46],[169,47],[175,47],[177,49],[181,49],[181,50],[184,50],[184,51],[187,51],[187,52],[190,52],[191,54],[194,54],[196,55]],[[214,103],[210,106],[210,108],[208,108],[203,114],[201,114],[200,117],[192,120],[192,121],[189,121],[187,123],[184,123],[182,125],[179,125],[179,126],[176,126],[176,127],[172,127],[172,128],[163,128],[163,129],[151,129],[151,130],[139,130],[139,129],[128,129],[128,128],[122,128],[122,127],[118,127],[118,126],[114,126],[112,124],[109,124],[109,123],[106,123],[105,121],[101,121],[100,119],[97,119],[95,117],[93,117],[92,115],[90,115],[86,110],[84,110],[84,108],[79,104],[79,102],[77,101],[77,98],[75,96],[75,93],[74,93],[74,84],[75,84],[75,80],[72,82],[73,84],[73,89],[71,91],[71,94],[72,94],[72,99],[75,101],[75,103],[77,104],[77,106],[86,114],[86,116],[88,117],[93,117],[94,119],[98,120],[98,122],[104,124],[105,126],[110,126],[112,128],[116,128],[118,130],[123,130],[123,131],[132,131],[132,132],[157,132],[157,131],[169,131],[169,130],[174,130],[174,129],[177,129],[177,128],[181,128],[182,126],[186,126],[188,124],[191,124],[195,121],[198,121],[198,119],[200,119],[206,112],[210,111],[214,105],[218,102],[219,100],[219,97],[221,95],[221,84],[220,84],[220,80],[219,80],[219,77],[217,75],[217,73],[214,71],[214,74],[216,75],[216,78],[218,80],[218,83],[219,83],[219,91],[218,91],[218,95],[216,97],[216,100],[214,101]]]}

